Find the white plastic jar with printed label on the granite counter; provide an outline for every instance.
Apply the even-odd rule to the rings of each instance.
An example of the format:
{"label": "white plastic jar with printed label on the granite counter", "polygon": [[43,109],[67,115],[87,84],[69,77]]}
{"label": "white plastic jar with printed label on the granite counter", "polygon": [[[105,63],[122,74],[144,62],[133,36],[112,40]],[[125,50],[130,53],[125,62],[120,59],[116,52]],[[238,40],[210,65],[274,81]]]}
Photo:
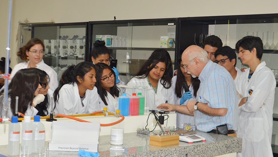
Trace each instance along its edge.
{"label": "white plastic jar with printed label on the granite counter", "polygon": [[122,145],[124,143],[124,128],[111,128],[110,144]]}

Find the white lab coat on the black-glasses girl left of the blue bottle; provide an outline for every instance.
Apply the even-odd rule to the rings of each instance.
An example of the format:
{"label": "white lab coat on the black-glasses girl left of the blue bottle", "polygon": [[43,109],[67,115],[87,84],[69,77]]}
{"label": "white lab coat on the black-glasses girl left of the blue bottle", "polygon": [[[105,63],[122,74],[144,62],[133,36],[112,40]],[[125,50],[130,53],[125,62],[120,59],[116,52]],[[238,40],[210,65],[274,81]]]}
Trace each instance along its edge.
{"label": "white lab coat on the black-glasses girl left of the blue bottle", "polygon": [[116,110],[119,109],[119,97],[113,97],[109,92],[107,92],[107,97],[105,97],[107,106],[101,100],[99,95],[99,103],[100,103],[100,110],[103,110],[103,107],[107,107],[108,112],[116,113]]}

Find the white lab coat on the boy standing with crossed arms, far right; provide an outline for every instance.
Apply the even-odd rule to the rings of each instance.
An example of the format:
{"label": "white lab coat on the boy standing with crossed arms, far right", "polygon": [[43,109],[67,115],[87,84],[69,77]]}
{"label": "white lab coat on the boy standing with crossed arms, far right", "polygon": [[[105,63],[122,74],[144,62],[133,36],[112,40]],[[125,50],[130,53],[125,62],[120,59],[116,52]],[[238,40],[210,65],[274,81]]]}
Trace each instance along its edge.
{"label": "white lab coat on the boy standing with crossed arms, far right", "polygon": [[[237,137],[242,138],[242,152],[238,157],[270,157],[273,125],[273,104],[276,80],[273,72],[261,62],[248,82],[250,68],[245,69],[236,85],[237,91],[248,101],[239,107]],[[253,92],[251,95],[249,91]]]}

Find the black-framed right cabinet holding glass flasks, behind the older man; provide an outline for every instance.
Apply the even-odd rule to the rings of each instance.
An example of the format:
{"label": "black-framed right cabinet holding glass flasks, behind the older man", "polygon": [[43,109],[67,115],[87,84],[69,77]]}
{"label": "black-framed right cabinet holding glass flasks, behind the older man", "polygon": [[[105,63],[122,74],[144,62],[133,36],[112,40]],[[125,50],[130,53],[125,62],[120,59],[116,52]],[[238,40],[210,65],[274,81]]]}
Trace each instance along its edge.
{"label": "black-framed right cabinet holding glass flasks, behind the older man", "polygon": [[[222,40],[223,46],[230,46],[235,50],[235,44],[242,37],[251,35],[260,37],[264,45],[264,54],[261,61],[272,69],[276,82],[278,80],[278,14],[233,15],[211,17],[179,18],[177,54],[190,45],[204,46],[203,40],[210,35],[216,35]],[[238,55],[238,53],[237,53]],[[176,63],[178,64],[178,63]],[[237,59],[236,67],[248,67]],[[276,85],[277,87],[277,85]],[[273,134],[278,134],[278,88],[275,91],[273,107]],[[272,141],[277,144],[276,138]],[[273,154],[278,153],[278,146],[273,146]]]}

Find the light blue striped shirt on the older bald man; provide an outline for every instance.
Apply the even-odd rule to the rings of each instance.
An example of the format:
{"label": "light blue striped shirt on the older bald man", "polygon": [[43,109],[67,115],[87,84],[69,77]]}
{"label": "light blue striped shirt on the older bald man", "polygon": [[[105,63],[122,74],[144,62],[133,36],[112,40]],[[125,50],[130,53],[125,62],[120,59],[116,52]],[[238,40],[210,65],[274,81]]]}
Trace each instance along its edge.
{"label": "light blue striped shirt on the older bald man", "polygon": [[206,103],[211,108],[227,108],[228,111],[225,116],[210,116],[195,111],[197,130],[208,132],[224,124],[227,124],[229,129],[236,130],[238,100],[231,74],[223,66],[209,61],[199,75],[199,80],[201,83],[197,91],[197,101]]}

